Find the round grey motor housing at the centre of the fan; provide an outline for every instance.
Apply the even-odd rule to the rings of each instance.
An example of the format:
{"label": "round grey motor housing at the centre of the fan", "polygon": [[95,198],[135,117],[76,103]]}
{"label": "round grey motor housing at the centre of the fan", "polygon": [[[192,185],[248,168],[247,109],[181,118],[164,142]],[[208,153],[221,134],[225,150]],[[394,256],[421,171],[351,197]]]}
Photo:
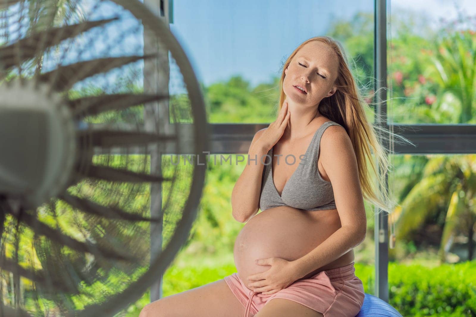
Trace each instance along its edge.
{"label": "round grey motor housing at the centre of the fan", "polygon": [[67,103],[45,83],[0,86],[0,195],[38,207],[64,191],[76,157]]}

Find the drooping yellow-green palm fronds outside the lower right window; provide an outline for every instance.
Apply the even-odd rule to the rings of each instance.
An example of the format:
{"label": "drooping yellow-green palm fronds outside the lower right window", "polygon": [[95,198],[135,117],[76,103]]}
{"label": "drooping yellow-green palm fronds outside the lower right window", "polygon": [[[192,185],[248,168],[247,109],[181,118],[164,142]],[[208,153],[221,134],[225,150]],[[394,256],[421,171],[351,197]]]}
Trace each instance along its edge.
{"label": "drooping yellow-green palm fronds outside the lower right window", "polygon": [[473,258],[476,229],[476,157],[474,155],[438,156],[425,165],[420,181],[408,192],[389,225],[396,222],[397,240],[408,240],[429,216],[445,208],[445,222],[438,255],[446,260],[455,236],[467,234],[468,259]]}

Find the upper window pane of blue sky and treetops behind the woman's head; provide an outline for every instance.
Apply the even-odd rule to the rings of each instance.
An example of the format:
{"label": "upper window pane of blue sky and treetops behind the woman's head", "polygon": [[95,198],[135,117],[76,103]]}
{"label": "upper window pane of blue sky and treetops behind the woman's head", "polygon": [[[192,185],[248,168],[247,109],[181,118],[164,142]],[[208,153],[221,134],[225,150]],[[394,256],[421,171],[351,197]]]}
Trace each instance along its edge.
{"label": "upper window pane of blue sky and treetops behind the woman's head", "polygon": [[353,67],[362,84],[373,87],[373,1],[173,3],[170,29],[197,73],[211,123],[274,121],[282,63],[317,35],[340,40],[357,58]]}

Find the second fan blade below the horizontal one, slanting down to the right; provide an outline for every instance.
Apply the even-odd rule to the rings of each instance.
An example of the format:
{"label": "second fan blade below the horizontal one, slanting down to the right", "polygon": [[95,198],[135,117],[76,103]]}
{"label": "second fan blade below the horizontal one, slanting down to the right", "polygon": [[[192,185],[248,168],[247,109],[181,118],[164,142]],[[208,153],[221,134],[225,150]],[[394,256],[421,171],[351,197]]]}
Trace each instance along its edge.
{"label": "second fan blade below the horizontal one, slanting down to the right", "polygon": [[137,214],[132,214],[115,207],[101,206],[87,199],[69,195],[67,193],[60,195],[60,199],[69,203],[71,207],[88,212],[98,216],[104,216],[107,219],[122,219],[129,221],[159,221],[159,218],[146,218]]}

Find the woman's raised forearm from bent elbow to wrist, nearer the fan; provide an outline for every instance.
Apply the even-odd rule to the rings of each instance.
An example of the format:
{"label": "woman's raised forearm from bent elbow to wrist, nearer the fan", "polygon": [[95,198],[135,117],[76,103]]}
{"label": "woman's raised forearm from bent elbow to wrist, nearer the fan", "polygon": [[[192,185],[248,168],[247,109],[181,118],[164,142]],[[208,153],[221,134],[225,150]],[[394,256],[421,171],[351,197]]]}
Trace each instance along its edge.
{"label": "woman's raised forearm from bent elbow to wrist, nearer the fan", "polygon": [[[233,218],[239,222],[246,222],[255,214],[259,209],[259,197],[261,196],[261,178],[263,174],[264,164],[261,162],[267,161],[265,154],[268,154],[268,150],[264,144],[257,142],[261,134],[268,129],[264,128],[259,130],[249,146],[249,164],[248,157],[245,158],[247,162],[245,169],[238,177],[238,181],[233,187],[231,192],[231,208]],[[256,161],[252,161],[254,159]]]}

